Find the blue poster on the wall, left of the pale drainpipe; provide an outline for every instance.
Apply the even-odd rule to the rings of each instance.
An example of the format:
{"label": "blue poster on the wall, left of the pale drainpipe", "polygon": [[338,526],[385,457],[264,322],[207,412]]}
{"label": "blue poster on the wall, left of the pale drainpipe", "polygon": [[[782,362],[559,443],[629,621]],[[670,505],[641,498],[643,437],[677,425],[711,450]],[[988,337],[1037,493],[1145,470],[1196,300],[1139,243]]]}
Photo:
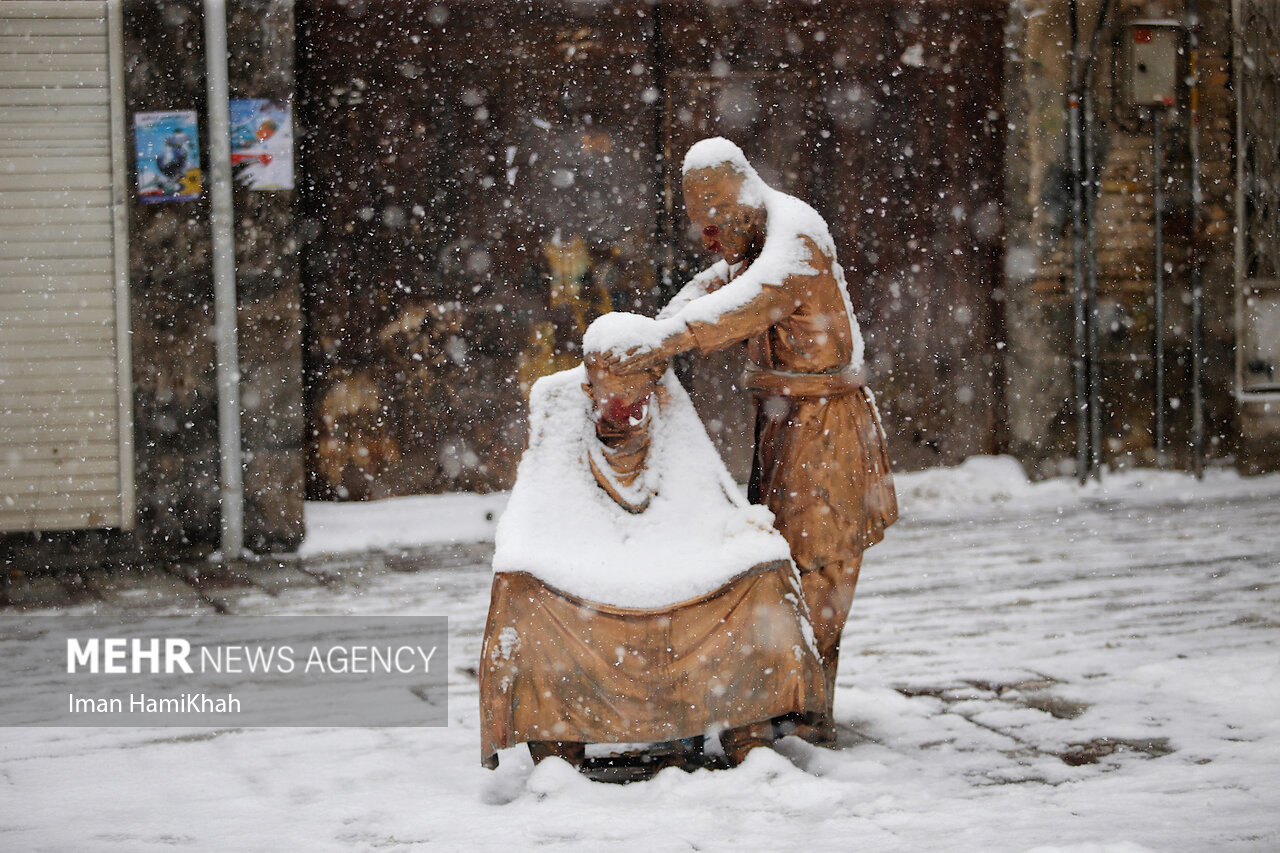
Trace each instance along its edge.
{"label": "blue poster on the wall, left of the pale drainpipe", "polygon": [[133,140],[138,155],[138,201],[200,199],[204,175],[195,110],[134,113]]}

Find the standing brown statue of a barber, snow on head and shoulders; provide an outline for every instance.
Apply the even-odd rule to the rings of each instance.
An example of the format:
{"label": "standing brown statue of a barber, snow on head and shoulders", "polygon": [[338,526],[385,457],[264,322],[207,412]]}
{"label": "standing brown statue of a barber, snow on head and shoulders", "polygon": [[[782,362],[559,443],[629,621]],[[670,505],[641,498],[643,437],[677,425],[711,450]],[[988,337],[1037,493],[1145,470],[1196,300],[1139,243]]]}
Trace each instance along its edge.
{"label": "standing brown statue of a barber, snow on head and shoulders", "polygon": [[689,218],[721,260],[659,314],[660,341],[609,362],[652,370],[672,356],[745,341],[745,387],[755,400],[750,500],[800,569],[827,685],[827,717],[799,734],[829,742],[840,635],[863,551],[897,519],[884,432],[863,378],[863,338],[822,216],[773,190],[723,138],[684,163]]}

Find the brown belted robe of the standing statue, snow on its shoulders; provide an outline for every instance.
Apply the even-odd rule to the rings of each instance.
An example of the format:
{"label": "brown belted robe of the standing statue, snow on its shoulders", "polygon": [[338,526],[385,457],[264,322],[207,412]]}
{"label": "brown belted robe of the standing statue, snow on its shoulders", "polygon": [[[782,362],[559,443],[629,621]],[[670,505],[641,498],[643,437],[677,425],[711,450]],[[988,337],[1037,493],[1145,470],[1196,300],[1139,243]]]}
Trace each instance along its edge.
{"label": "brown belted robe of the standing statue, snow on its shoulders", "polygon": [[701,352],[746,341],[744,384],[756,403],[751,500],[773,512],[801,571],[817,570],[879,542],[897,497],[827,225],[774,190],[765,210],[760,256],[714,264],[659,316],[684,320]]}

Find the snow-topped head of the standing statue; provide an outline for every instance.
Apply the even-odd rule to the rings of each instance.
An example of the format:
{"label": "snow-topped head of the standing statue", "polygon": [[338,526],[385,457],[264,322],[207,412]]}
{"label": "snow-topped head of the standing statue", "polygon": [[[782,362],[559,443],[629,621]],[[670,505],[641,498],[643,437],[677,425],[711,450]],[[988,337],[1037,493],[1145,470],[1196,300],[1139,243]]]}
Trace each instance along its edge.
{"label": "snow-topped head of the standing statue", "polygon": [[764,242],[767,186],[742,150],[722,137],[689,149],[684,164],[685,210],[703,248],[737,264]]}

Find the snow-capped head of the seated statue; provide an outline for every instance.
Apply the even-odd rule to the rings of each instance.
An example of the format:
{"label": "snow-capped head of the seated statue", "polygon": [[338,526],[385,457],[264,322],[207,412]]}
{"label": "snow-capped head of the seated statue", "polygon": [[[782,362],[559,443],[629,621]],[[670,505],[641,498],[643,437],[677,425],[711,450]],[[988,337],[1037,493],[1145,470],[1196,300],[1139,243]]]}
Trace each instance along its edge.
{"label": "snow-capped head of the seated statue", "polygon": [[620,374],[605,366],[611,352],[623,353],[648,346],[658,336],[658,321],[639,314],[614,311],[596,319],[582,336],[582,364],[586,384],[582,389],[593,401],[596,421],[625,429],[644,418],[645,405],[653,396],[667,365],[639,373]]}

